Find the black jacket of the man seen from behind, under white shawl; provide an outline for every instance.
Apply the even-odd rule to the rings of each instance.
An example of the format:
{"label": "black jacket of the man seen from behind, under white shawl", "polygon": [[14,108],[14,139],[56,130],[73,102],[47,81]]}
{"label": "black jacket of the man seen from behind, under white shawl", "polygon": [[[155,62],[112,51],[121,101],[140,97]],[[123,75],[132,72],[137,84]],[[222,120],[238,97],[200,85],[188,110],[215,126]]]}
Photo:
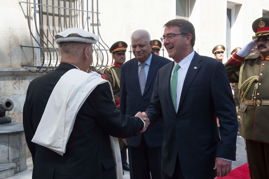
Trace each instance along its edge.
{"label": "black jacket of the man seen from behind, under white shawl", "polygon": [[63,156],[31,142],[53,88],[72,68],[75,66],[61,63],[57,69],[35,78],[28,87],[23,125],[32,153],[33,178],[60,178],[59,174],[77,179],[116,178],[109,135],[127,138],[138,134],[143,122],[138,117],[121,115],[112,101],[108,83],[98,85],[78,111]]}

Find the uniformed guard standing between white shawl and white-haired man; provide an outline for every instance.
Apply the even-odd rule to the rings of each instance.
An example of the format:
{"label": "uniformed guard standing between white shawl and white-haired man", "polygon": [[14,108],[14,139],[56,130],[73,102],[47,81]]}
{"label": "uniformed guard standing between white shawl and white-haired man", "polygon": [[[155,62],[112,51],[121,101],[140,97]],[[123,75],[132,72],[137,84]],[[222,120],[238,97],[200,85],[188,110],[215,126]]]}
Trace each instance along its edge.
{"label": "uniformed guard standing between white shawl and white-haired man", "polygon": [[[115,104],[117,108],[120,108],[120,79],[121,79],[121,65],[125,62],[125,52],[128,47],[124,41],[115,42],[109,49],[112,54],[112,58],[115,60],[114,64],[108,66],[104,70],[104,75],[108,76],[108,81],[111,83],[113,94],[115,98]],[[119,144],[121,149],[121,160],[123,170],[130,171],[129,164],[127,163],[127,145],[123,139],[119,138]]]}

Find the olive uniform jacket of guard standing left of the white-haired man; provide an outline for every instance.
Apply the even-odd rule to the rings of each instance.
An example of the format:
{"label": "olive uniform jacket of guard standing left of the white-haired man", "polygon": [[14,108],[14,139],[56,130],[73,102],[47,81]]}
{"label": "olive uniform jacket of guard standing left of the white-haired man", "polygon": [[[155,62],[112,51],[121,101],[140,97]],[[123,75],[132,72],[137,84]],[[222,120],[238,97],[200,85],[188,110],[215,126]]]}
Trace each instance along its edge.
{"label": "olive uniform jacket of guard standing left of the white-haired man", "polygon": [[108,76],[108,81],[110,82],[112,89],[113,89],[115,104],[116,104],[117,108],[119,108],[121,65],[114,62],[114,65],[111,65],[111,66],[105,68],[104,75]]}

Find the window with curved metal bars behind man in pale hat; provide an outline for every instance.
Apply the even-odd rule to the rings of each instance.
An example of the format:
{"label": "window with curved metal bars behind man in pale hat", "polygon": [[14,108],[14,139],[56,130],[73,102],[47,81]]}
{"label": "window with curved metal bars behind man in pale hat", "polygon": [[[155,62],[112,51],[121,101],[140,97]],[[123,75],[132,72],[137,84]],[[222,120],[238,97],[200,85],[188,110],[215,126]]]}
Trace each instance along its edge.
{"label": "window with curved metal bars behind man in pale hat", "polygon": [[[27,6],[28,25],[33,38],[32,48],[34,55],[33,65],[22,65],[23,67],[36,67],[33,73],[48,72],[58,66],[60,58],[58,45],[54,36],[68,28],[82,28],[95,33],[100,37],[98,25],[98,12],[94,9],[98,0],[32,0],[25,3]],[[31,8],[28,10],[28,8]],[[31,14],[30,14],[31,13]],[[94,63],[97,70],[108,65],[108,46],[99,38],[94,48]],[[104,64],[106,58],[106,64]]]}

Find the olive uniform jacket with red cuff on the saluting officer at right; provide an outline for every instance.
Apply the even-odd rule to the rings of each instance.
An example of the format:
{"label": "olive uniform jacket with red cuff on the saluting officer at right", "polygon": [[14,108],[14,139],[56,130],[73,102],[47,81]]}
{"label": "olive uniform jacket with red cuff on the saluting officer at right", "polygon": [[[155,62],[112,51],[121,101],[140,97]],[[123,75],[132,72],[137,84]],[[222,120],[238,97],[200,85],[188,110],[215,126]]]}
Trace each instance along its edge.
{"label": "olive uniform jacket with red cuff on the saluting officer at right", "polygon": [[[241,83],[246,84],[243,88],[246,96],[243,99],[247,105],[244,108],[240,135],[245,139],[269,143],[269,61],[263,61],[258,54],[246,58],[234,54],[225,63],[225,68],[230,82],[240,82],[241,68]],[[253,78],[252,84],[246,81],[250,77]],[[248,85],[250,88],[247,91]],[[240,88],[240,83],[238,87]]]}

